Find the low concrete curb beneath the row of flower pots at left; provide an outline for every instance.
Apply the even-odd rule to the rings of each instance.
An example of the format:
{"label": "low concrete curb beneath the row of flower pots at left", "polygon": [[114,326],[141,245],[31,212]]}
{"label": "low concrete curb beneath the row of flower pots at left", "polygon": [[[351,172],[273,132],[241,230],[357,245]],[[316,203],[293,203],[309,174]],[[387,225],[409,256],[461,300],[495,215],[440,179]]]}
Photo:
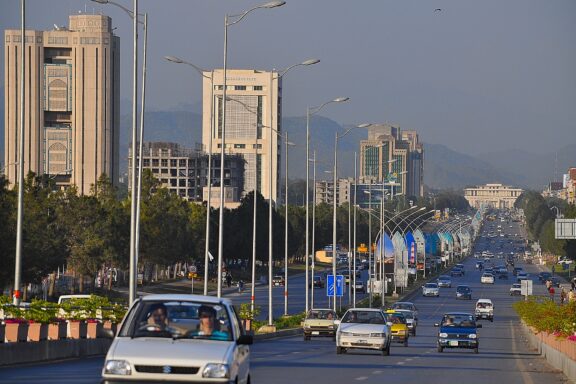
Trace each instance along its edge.
{"label": "low concrete curb beneath the row of flower pots at left", "polygon": [[51,340],[0,344],[0,366],[104,355],[112,339]]}

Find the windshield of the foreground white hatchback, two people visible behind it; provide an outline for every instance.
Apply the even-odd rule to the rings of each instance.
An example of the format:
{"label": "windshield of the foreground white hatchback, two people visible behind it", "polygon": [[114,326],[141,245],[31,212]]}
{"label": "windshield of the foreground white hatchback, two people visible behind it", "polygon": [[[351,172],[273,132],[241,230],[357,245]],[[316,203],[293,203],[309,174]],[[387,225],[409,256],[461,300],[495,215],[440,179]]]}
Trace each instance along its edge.
{"label": "windshield of the foreground white hatchback, two people visible behind it", "polygon": [[232,341],[225,306],[196,301],[141,301],[119,336]]}

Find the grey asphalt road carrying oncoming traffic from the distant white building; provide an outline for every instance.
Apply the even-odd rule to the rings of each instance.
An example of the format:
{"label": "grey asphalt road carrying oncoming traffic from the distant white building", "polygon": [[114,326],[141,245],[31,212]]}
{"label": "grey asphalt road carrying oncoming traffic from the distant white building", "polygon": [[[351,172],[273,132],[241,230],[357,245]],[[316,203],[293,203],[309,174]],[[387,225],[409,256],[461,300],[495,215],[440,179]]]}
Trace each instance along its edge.
{"label": "grey asphalt road carrying oncoming traffic from the distant white building", "polygon": [[[512,228],[509,227],[512,225]],[[504,225],[502,225],[504,226]],[[486,233],[492,225],[486,225]],[[495,229],[494,229],[495,230]],[[515,233],[517,223],[506,224],[502,232]],[[509,235],[510,236],[510,235]],[[510,239],[483,238],[476,250],[512,252],[516,246]],[[493,241],[491,241],[493,240]],[[517,244],[520,244],[518,242]],[[521,297],[511,297],[509,280],[496,280],[494,285],[480,284],[481,272],[474,268],[473,257],[464,261],[466,274],[453,278],[452,288],[441,288],[440,297],[422,297],[417,292],[411,300],[420,312],[417,336],[411,337],[409,346],[393,345],[390,356],[370,351],[336,355],[334,342],[329,338],[303,341],[302,337],[290,337],[258,341],[252,346],[251,372],[254,383],[566,383],[566,377],[551,368],[536,351],[529,348],[512,304]],[[495,259],[500,263],[501,259]],[[541,267],[523,265],[532,277]],[[517,263],[518,265],[518,263]],[[457,284],[467,284],[473,290],[470,301],[456,300]],[[267,287],[261,287],[267,290]],[[281,292],[276,305],[283,308]],[[545,294],[545,287],[534,281],[534,294]],[[261,292],[264,299],[266,292]],[[249,296],[248,296],[249,297]],[[448,311],[474,309],[478,298],[490,298],[495,304],[494,322],[481,321],[480,353],[471,350],[436,351],[434,323]],[[238,299],[244,299],[238,297]],[[280,304],[281,303],[281,304]],[[0,383],[98,383],[103,358],[86,358],[50,364],[0,369]]]}

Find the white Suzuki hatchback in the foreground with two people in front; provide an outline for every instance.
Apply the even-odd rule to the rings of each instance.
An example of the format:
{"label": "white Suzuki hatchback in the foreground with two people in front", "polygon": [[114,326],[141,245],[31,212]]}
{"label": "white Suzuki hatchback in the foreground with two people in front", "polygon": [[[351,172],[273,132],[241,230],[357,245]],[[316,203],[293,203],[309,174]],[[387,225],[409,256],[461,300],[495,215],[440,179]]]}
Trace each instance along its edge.
{"label": "white Suzuki hatchback in the foreground with two people in front", "polygon": [[252,336],[244,334],[228,299],[145,296],[122,321],[102,383],[248,383],[250,344]]}

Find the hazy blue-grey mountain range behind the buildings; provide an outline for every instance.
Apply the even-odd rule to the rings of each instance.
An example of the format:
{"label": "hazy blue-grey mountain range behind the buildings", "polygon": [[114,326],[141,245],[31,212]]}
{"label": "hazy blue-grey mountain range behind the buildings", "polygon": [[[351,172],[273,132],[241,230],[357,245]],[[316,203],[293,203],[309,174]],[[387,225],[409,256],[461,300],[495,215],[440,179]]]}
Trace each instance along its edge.
{"label": "hazy blue-grey mountain range behind the buildings", "polygon": [[[4,92],[0,89],[0,121],[4,121]],[[122,103],[130,111],[129,102]],[[202,141],[202,116],[199,105],[180,105],[174,110],[150,111],[145,116],[145,141],[176,142],[194,147]],[[131,114],[120,119],[121,172],[126,172],[128,147],[131,141]],[[322,116],[310,120],[310,157],[317,152],[316,178],[331,178],[334,162],[334,135],[351,126],[341,125]],[[304,178],[306,159],[306,118],[284,117],[282,131],[288,132],[295,146],[289,149],[289,178]],[[354,152],[366,137],[363,129],[351,129],[338,141],[338,174],[354,175]],[[282,147],[284,158],[284,147]],[[0,159],[4,161],[4,135],[0,135]],[[576,143],[559,147],[555,153],[535,154],[524,149],[468,155],[442,144],[424,143],[424,183],[432,189],[461,189],[466,186],[503,183],[521,188],[542,189],[551,180],[561,180],[568,167],[576,166]],[[284,166],[282,166],[282,169]],[[312,177],[312,175],[311,175]]]}

